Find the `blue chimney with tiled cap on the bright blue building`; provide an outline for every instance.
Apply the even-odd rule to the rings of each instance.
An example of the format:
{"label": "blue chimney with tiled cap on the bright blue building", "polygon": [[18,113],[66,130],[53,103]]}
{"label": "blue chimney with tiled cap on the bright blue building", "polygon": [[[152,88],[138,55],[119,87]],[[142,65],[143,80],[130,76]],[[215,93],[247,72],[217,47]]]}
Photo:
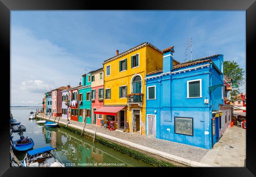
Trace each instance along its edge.
{"label": "blue chimney with tiled cap on the bright blue building", "polygon": [[174,46],[163,50],[163,73],[170,72],[173,69]]}

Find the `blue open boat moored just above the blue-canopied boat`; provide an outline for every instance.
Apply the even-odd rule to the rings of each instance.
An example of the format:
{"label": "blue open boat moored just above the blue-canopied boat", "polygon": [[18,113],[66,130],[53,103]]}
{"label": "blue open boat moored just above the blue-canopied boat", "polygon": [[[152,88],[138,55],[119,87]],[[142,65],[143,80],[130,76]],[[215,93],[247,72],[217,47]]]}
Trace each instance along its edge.
{"label": "blue open boat moored just above the blue-canopied boat", "polygon": [[16,151],[27,151],[29,149],[32,149],[32,147],[35,145],[32,138],[28,138],[28,136],[25,138],[23,135],[20,136],[19,140],[12,140],[13,136],[11,136],[12,146],[13,149]]}

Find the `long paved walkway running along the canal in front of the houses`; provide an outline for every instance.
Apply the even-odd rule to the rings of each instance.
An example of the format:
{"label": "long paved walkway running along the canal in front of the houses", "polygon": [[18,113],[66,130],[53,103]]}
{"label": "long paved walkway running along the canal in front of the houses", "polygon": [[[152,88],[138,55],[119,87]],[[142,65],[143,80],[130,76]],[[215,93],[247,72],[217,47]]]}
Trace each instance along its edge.
{"label": "long paved walkway running along the canal in front of the houses", "polygon": [[[49,117],[50,116],[47,116],[47,119]],[[54,118],[53,118],[53,120],[54,120]],[[52,120],[52,117],[50,120]],[[67,124],[66,118],[59,119],[59,117],[57,117],[56,122],[58,120],[59,120],[59,123]],[[83,129],[84,123],[70,120],[69,126],[75,126],[79,129]],[[147,150],[148,152],[155,153],[155,154],[160,155],[165,158],[167,157],[168,159],[172,159],[174,161],[176,159],[176,162],[184,162],[183,164],[189,164],[190,166],[192,166],[191,165],[192,162],[194,164],[193,166],[203,166],[204,164],[206,164],[205,166],[208,166],[208,165],[218,166],[217,160],[219,160],[219,154],[223,153],[223,151],[221,150],[222,145],[219,145],[221,147],[219,147],[219,150],[217,150],[217,144],[215,144],[216,147],[214,146],[214,149],[210,150],[210,149],[204,149],[204,148],[190,146],[190,145],[186,145],[186,144],[171,142],[171,141],[167,141],[167,140],[161,140],[158,138],[154,138],[152,136],[139,135],[139,133],[109,131],[108,129],[104,129],[98,125],[92,125],[92,124],[86,124],[85,131],[94,133],[95,128],[97,129],[96,135],[100,134],[100,135],[106,135],[110,138],[113,137],[113,140],[119,140],[119,142],[124,142],[125,144],[130,143],[130,144],[132,144],[131,146],[135,145],[134,147],[139,147],[139,149]],[[234,129],[234,128],[230,128],[230,129],[228,129],[228,131],[230,131],[231,129]],[[228,131],[226,133],[228,133]],[[224,135],[226,133],[224,133]],[[232,136],[235,136],[235,135],[233,135],[233,133],[231,133],[231,134],[232,134]],[[224,135],[223,135],[223,137],[226,137]],[[230,137],[230,135],[227,135],[227,136]],[[236,139],[236,138],[234,138],[234,139]],[[230,140],[230,138],[228,140]],[[224,139],[221,138],[220,141],[224,141]],[[236,142],[238,142],[238,141],[235,141],[235,144],[236,144]],[[235,146],[235,145],[233,145],[233,146]],[[241,146],[242,146],[242,144],[241,144]],[[239,147],[236,147],[236,148],[239,148]],[[245,144],[244,144],[244,149],[245,149]],[[208,160],[209,158],[213,157],[214,153],[216,153],[216,163],[215,164],[213,164],[214,162],[211,162],[210,160]],[[224,157],[225,157],[224,160],[226,160],[226,155]],[[223,164],[219,162],[219,166],[220,165],[223,165]],[[230,164],[230,166],[231,166],[231,164]]]}

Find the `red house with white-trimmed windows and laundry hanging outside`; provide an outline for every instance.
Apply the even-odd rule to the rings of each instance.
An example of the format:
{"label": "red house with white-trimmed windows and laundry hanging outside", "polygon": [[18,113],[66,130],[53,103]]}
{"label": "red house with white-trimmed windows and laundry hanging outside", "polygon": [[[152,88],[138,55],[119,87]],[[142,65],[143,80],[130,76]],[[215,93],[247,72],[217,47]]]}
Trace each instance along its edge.
{"label": "red house with white-trimmed windows and laundry hanging outside", "polygon": [[70,89],[67,89],[68,92],[68,101],[65,103],[68,107],[67,116],[69,120],[75,120],[78,121],[78,88],[82,87],[82,85],[79,85],[77,87],[72,87]]}

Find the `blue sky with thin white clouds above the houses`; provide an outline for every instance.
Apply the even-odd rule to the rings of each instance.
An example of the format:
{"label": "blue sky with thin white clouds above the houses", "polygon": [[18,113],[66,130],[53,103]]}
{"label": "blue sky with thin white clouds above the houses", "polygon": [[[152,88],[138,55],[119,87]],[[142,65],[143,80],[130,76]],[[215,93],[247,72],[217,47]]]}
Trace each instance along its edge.
{"label": "blue sky with thin white clouds above the houses", "polygon": [[11,105],[36,106],[143,42],[174,46],[182,63],[192,38],[192,59],[223,54],[245,69],[245,20],[245,11],[11,11]]}

